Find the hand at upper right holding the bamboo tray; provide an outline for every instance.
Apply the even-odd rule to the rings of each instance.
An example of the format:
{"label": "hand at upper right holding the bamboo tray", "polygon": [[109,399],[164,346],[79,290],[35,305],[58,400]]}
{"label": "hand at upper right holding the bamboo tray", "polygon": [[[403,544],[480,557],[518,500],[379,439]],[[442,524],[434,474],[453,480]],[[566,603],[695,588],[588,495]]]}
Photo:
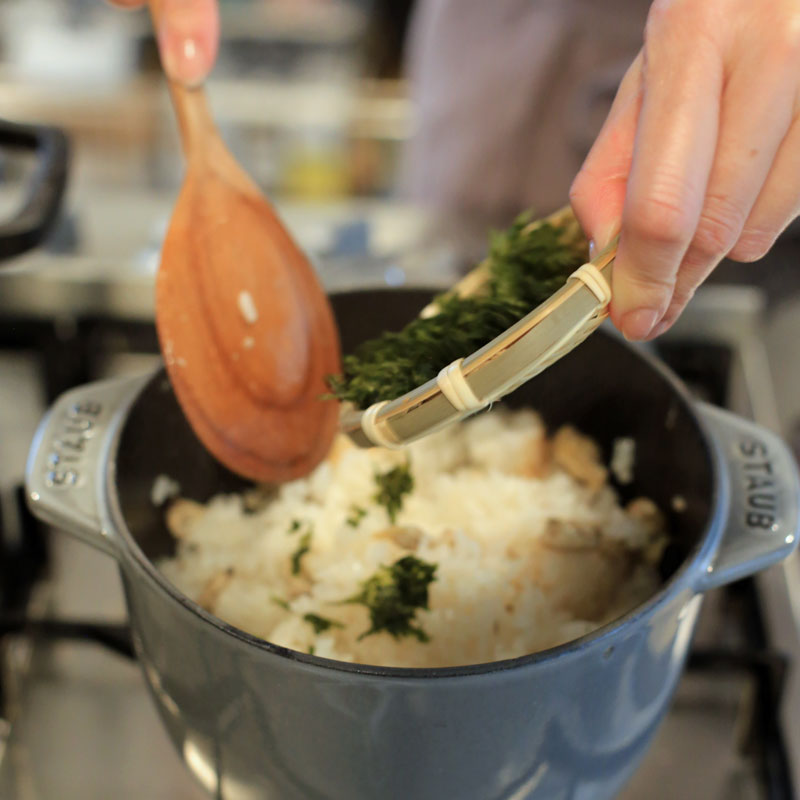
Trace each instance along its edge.
{"label": "hand at upper right holding the bamboo tray", "polygon": [[655,0],[645,43],[573,183],[611,315],[667,330],[724,258],[755,261],[800,214],[800,0]]}

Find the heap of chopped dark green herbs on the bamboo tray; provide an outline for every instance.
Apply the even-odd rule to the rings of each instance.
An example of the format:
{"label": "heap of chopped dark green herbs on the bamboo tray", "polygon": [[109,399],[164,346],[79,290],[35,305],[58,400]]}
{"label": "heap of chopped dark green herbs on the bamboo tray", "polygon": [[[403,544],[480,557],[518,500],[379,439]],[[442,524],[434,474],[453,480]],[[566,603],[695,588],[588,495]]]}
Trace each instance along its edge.
{"label": "heap of chopped dark green herbs on the bamboo tray", "polygon": [[329,378],[333,393],[359,408],[399,397],[442,367],[479,350],[560,289],[587,257],[576,224],[530,224],[519,216],[490,237],[488,281],[480,295],[437,298],[439,313],[364,342]]}

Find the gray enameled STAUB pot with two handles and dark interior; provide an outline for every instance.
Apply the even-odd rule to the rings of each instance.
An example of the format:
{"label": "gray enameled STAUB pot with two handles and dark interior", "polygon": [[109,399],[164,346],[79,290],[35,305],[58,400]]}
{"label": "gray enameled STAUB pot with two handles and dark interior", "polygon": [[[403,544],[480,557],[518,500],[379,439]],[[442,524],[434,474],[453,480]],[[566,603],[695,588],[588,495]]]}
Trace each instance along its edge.
{"label": "gray enameled STAUB pot with two handles and dark interior", "polygon": [[[427,299],[408,290],[335,297],[344,347],[399,327]],[[776,436],[692,402],[663,367],[603,332],[509,402],[532,405],[551,426],[576,424],[606,456],[616,437],[634,437],[635,483],[621,492],[652,497],[670,515],[665,582],[567,645],[427,670],[276,647],[161,577],[153,561],[173,545],[150,500],[156,476],[199,500],[241,485],[195,439],[163,372],[56,402],[29,459],[33,511],[119,562],[153,699],[215,797],[610,798],[631,775],[669,704],[703,592],[794,547],[794,461]]]}

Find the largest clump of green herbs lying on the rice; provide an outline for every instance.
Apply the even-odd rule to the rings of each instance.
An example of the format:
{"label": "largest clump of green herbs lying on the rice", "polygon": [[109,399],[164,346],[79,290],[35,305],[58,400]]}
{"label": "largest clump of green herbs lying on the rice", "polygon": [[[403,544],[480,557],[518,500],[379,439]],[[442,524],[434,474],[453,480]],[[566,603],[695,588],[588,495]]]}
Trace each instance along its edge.
{"label": "largest clump of green herbs lying on the rice", "polygon": [[436,580],[436,564],[428,564],[415,556],[405,556],[390,567],[381,567],[361,584],[361,591],[346,600],[366,606],[372,627],[365,636],[385,631],[395,639],[414,636],[429,641],[428,634],[414,625],[417,610],[428,608],[428,587]]}

